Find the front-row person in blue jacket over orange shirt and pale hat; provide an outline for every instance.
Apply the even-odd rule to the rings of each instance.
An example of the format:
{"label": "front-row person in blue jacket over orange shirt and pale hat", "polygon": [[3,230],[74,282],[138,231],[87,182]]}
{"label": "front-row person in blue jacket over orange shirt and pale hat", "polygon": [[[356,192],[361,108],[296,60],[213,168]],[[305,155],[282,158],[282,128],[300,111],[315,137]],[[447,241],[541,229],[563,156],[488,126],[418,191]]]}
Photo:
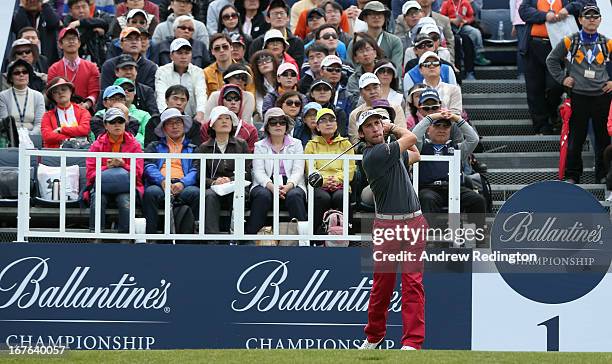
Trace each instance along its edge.
{"label": "front-row person in blue jacket over orange shirt and pale hat", "polygon": [[[191,124],[191,118],[178,109],[164,110],[155,128],[160,139],[149,144],[145,153],[194,153],[197,146],[185,135]],[[200,189],[195,159],[171,159],[170,176],[167,175],[166,159],[146,159],[144,163],[142,214],[147,220],[147,234],[157,233],[158,208],[164,201],[166,183],[170,183],[175,206],[187,205],[194,216],[199,215]]]}

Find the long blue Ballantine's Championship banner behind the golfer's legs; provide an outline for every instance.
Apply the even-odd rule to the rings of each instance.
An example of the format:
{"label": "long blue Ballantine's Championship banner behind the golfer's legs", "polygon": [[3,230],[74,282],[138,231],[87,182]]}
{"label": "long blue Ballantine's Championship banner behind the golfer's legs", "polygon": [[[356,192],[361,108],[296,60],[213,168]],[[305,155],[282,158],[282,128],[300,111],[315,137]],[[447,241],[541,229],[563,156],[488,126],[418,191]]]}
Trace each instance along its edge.
{"label": "long blue Ballantine's Championship banner behind the golfer's legs", "polygon": [[[356,348],[361,249],[1,244],[0,344],[71,349]],[[428,349],[470,349],[470,263],[427,266]],[[401,297],[386,348],[401,345]]]}

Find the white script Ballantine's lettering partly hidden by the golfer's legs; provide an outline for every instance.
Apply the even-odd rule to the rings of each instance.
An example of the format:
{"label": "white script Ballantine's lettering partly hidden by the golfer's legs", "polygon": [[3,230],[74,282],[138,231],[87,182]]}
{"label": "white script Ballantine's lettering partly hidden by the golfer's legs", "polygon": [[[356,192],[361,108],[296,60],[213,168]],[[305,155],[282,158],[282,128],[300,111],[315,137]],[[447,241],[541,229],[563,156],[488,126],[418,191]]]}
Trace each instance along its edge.
{"label": "white script Ballantine's lettering partly hidden by the golfer's legs", "polygon": [[[313,272],[306,286],[302,289],[281,291],[289,270],[287,264],[280,260],[265,260],[250,266],[238,278],[236,290],[246,296],[248,302],[232,302],[232,310],[243,312],[252,308],[260,312],[276,309],[279,311],[367,311],[372,281],[361,278],[357,286],[347,290],[321,290],[329,270],[317,269]],[[272,271],[266,267],[272,266]],[[266,273],[258,271],[265,270]],[[267,276],[265,276],[267,274]],[[253,276],[263,277],[261,284],[253,284]],[[247,286],[248,285],[248,286]],[[393,292],[389,311],[401,310],[401,296]]]}

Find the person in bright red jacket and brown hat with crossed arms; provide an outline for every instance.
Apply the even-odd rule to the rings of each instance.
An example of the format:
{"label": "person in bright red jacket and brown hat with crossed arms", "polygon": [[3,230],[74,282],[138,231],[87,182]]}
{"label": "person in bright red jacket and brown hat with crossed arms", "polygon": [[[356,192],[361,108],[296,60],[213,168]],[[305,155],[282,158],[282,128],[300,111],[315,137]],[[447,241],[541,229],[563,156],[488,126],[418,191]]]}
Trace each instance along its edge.
{"label": "person in bright red jacket and brown hat with crossed arms", "polygon": [[40,125],[45,148],[59,148],[70,138],[87,138],[91,114],[70,101],[73,93],[74,85],[63,77],[49,82],[47,98],[55,107],[43,115]]}

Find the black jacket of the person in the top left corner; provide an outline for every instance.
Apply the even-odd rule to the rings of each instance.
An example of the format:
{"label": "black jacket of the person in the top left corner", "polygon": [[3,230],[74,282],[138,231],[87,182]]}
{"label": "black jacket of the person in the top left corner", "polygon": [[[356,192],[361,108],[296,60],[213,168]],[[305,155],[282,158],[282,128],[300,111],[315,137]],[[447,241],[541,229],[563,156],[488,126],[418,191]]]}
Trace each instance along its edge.
{"label": "black jacket of the person in the top left corner", "polygon": [[[4,5],[6,6],[7,4]],[[48,58],[49,64],[53,64],[60,58],[57,48],[57,34],[60,30],[60,18],[49,3],[44,3],[42,5],[42,10],[37,14],[36,18],[39,18],[37,30],[40,34],[41,53]],[[32,17],[24,8],[19,6],[13,14],[11,33],[16,36],[21,28],[36,27],[36,18]]]}

